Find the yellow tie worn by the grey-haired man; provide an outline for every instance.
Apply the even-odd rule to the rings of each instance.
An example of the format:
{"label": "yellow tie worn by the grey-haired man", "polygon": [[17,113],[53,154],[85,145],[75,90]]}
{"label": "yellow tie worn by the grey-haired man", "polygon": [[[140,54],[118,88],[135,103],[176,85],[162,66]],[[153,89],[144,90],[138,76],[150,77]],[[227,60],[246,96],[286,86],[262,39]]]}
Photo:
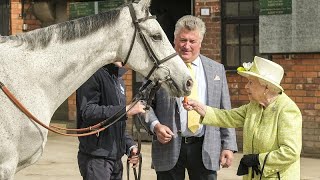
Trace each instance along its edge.
{"label": "yellow tie worn by the grey-haired man", "polygon": [[[198,100],[198,82],[196,80],[194,70],[192,68],[191,63],[186,63],[186,65],[190,71],[190,74],[193,80],[193,87],[192,87],[189,98]],[[192,133],[195,133],[199,129],[199,126],[200,126],[199,120],[200,120],[200,115],[196,111],[194,110],[188,111],[188,128]]]}

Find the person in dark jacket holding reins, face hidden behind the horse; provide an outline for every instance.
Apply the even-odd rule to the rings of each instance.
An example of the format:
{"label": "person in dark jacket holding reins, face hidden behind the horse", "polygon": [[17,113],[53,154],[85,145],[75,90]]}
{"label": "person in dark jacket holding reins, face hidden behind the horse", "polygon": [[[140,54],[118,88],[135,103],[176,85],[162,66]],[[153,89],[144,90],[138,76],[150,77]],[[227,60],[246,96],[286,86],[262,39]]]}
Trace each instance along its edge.
{"label": "person in dark jacket holding reins, face hidden behind the horse", "polygon": [[[115,65],[117,64],[117,65]],[[86,128],[116,114],[144,113],[139,102],[130,109],[126,106],[124,81],[125,69],[120,63],[100,68],[77,90],[77,127]],[[78,165],[84,180],[121,180],[124,154],[136,155],[136,143],[126,129],[127,116],[99,134],[79,137]],[[132,163],[137,163],[132,159]]]}

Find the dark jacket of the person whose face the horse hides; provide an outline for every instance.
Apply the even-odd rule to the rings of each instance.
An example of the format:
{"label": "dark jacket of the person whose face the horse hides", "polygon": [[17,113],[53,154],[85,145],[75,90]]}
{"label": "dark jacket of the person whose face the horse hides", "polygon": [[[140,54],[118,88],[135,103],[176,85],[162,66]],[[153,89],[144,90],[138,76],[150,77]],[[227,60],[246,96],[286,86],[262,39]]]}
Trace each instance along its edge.
{"label": "dark jacket of the person whose face the horse hides", "polygon": [[[95,125],[118,111],[126,113],[125,86],[121,78],[124,73],[124,68],[114,64],[106,65],[77,90],[78,128]],[[98,135],[79,137],[79,152],[111,160],[120,159],[135,145],[125,131],[126,119],[125,115]]]}

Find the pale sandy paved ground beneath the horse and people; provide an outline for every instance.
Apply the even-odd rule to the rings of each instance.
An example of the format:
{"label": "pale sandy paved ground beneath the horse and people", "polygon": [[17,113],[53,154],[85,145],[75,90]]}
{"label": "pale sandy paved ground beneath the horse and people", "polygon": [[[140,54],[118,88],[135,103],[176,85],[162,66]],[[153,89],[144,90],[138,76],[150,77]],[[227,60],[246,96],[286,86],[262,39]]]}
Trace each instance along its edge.
{"label": "pale sandy paved ground beneath the horse and people", "polygon": [[[29,166],[15,176],[16,180],[80,180],[81,176],[77,166],[77,138],[64,137],[60,135],[49,136],[48,143],[41,159],[34,165]],[[151,164],[151,145],[143,143],[143,164],[142,180],[155,180],[154,171],[150,168]],[[236,153],[234,164],[228,169],[218,172],[219,180],[238,180],[236,176],[237,167],[242,154]],[[126,156],[123,158],[125,162]],[[301,159],[301,180],[320,180],[319,171],[320,159],[302,158]],[[125,168],[125,167],[124,167]],[[131,171],[130,179],[133,178]],[[124,172],[124,180],[127,179]],[[188,179],[188,178],[187,178]]]}

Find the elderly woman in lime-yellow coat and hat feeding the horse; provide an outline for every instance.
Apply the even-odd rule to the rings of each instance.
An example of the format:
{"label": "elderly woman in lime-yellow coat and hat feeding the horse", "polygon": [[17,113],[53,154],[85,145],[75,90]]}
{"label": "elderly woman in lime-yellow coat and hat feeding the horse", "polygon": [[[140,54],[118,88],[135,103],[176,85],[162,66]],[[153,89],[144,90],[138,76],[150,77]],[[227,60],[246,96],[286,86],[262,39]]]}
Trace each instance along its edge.
{"label": "elderly woman in lime-yellow coat and hat feeding the horse", "polygon": [[189,100],[185,109],[197,111],[205,125],[243,127],[244,156],[237,172],[243,179],[300,180],[302,116],[280,86],[283,68],[256,56],[238,74],[248,79],[250,103],[221,110]]}

